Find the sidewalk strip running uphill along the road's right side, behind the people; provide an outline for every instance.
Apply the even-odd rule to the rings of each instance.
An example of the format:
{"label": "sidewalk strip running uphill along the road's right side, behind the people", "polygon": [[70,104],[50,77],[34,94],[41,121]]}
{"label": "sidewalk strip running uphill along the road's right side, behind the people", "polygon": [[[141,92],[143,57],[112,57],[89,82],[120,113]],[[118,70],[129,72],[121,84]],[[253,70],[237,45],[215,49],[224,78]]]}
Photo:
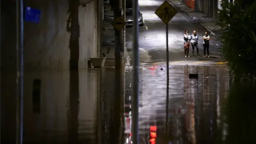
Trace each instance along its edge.
{"label": "sidewalk strip running uphill along the road's right side, behind the people", "polygon": [[180,0],[168,0],[168,1],[174,4],[174,6],[180,8],[188,16],[190,16],[194,21],[198,22],[204,28],[206,28],[206,30],[210,32],[210,35],[213,35],[219,39],[219,36],[222,33],[222,29],[220,26],[216,26],[217,20],[214,20],[213,18],[209,18],[207,17],[206,14],[197,12],[196,10],[189,8],[188,6],[186,6],[186,4],[180,2]]}

